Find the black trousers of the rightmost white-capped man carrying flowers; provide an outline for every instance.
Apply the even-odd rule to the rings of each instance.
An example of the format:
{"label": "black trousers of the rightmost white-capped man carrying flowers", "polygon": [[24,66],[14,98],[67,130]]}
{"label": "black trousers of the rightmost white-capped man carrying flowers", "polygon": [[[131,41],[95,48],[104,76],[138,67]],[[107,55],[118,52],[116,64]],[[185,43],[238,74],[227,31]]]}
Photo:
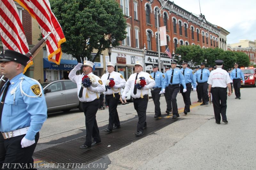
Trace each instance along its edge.
{"label": "black trousers of the rightmost white-capped man carrying flowers", "polygon": [[148,94],[144,95],[143,98],[133,98],[133,106],[139,116],[137,131],[143,132],[144,127],[147,126],[146,112],[148,107]]}

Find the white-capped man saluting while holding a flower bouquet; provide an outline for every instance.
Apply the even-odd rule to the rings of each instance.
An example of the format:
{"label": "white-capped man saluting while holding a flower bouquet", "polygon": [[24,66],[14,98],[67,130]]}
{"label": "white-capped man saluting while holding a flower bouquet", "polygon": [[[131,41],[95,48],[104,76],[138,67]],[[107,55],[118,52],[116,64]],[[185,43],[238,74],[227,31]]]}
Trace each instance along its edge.
{"label": "white-capped man saluting while holding a flower bouquet", "polygon": [[[83,66],[83,74],[76,75],[76,71]],[[100,92],[105,91],[105,86],[101,79],[92,73],[94,63],[84,61],[84,64],[78,63],[76,67],[70,71],[68,78],[77,85],[78,99],[83,103],[86,127],[86,140],[84,145],[80,146],[82,149],[88,149],[91,146],[100,144],[100,131],[96,121],[96,113],[99,107]],[[92,85],[90,87],[82,86],[82,78],[87,75],[91,77]],[[92,142],[93,137],[93,142]]]}

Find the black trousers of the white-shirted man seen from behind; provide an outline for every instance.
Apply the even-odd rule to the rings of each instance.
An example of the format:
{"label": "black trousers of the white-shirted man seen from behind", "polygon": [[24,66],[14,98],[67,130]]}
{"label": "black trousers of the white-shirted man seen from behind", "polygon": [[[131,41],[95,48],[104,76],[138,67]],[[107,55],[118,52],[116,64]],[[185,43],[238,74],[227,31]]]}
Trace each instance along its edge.
{"label": "black trousers of the white-shirted man seen from behind", "polygon": [[220,122],[220,114],[222,120],[227,120],[227,88],[214,87],[211,89],[213,110],[216,122]]}

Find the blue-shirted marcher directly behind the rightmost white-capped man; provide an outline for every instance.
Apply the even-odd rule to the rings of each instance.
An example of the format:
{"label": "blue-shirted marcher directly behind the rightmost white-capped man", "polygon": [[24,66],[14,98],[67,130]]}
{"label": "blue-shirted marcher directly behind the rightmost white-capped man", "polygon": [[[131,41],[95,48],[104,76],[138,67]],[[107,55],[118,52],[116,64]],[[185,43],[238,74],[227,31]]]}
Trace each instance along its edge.
{"label": "blue-shirted marcher directly behind the rightmost white-capped man", "polygon": [[155,104],[155,118],[161,116],[161,109],[160,109],[160,96],[161,94],[165,93],[164,89],[164,74],[158,71],[158,64],[153,64],[152,66],[153,72],[151,76],[156,82],[156,85],[153,87],[153,91],[151,91],[152,99]]}

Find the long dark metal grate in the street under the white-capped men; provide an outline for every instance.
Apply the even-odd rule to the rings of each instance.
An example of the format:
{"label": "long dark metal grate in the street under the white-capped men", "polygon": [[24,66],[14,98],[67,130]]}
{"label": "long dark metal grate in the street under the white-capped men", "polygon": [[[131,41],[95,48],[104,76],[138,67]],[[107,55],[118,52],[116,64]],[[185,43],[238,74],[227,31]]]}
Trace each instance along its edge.
{"label": "long dark metal grate in the street under the white-capped men", "polygon": [[[84,144],[85,136],[62,144],[35,152],[33,157],[51,163],[85,163],[88,164],[96,159],[119,150],[151,133],[164,128],[165,126],[179,119],[147,117],[147,129],[141,137],[135,136],[137,131],[138,118],[124,122],[120,129],[113,130],[112,133],[105,133],[100,130],[101,144],[91,147],[89,150],[80,149]],[[110,145],[110,146],[109,146]],[[108,147],[109,146],[109,147]]]}

